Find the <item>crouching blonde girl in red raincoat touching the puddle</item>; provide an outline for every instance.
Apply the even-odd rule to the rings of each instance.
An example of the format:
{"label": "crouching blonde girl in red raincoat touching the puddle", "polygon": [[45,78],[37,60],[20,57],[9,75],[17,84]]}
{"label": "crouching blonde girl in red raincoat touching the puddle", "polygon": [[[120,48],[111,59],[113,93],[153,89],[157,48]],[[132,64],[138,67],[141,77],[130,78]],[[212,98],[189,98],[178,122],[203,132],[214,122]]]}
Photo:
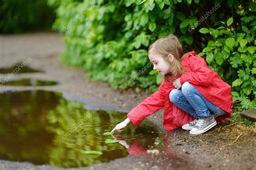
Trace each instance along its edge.
{"label": "crouching blonde girl in red raincoat touching the puddle", "polygon": [[156,40],[148,54],[153,70],[164,76],[164,80],[158,91],[134,107],[111,133],[123,131],[130,122],[138,126],[163,107],[163,126],[169,131],[182,127],[190,130],[190,134],[201,134],[214,127],[216,120],[232,117],[231,86],[194,51],[184,55],[176,36]]}

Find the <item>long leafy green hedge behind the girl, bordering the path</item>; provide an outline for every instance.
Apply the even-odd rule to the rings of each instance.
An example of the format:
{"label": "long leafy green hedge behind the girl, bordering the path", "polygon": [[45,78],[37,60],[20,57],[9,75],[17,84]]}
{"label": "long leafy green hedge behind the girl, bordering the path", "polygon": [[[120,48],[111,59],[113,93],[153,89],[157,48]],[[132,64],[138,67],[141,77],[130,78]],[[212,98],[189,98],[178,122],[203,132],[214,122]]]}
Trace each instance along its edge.
{"label": "long leafy green hedge behind the girl, bordering the path", "polygon": [[[147,48],[154,40],[174,34],[185,52],[203,51],[200,55],[207,56],[210,67],[233,85],[235,100],[247,99],[249,104],[244,106],[255,107],[254,0],[241,4],[237,0],[48,1],[58,6],[53,29],[66,35],[62,62],[82,66],[86,77],[116,89],[156,91],[162,77],[152,70]],[[242,14],[239,5],[244,9]],[[232,19],[228,24],[222,22],[228,18],[235,23]],[[227,25],[232,31],[226,30]],[[232,47],[233,40],[228,38],[234,38]]]}

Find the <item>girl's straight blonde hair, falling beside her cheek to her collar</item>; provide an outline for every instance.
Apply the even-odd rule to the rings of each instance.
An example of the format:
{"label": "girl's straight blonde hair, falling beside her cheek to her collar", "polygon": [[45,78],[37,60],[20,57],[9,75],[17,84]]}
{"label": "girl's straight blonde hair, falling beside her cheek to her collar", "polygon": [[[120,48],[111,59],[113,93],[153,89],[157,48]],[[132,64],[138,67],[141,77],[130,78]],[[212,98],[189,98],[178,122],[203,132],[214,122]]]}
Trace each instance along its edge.
{"label": "girl's straight blonde hair, falling beside her cheek to her collar", "polygon": [[[150,45],[148,53],[152,52],[159,57],[162,57],[166,63],[170,65],[169,73],[165,74],[165,79],[171,76],[171,79],[176,78],[177,75],[185,73],[181,66],[181,60],[184,55],[183,49],[179,43],[179,39],[174,35],[162,37]],[[173,61],[168,55],[173,55]]]}

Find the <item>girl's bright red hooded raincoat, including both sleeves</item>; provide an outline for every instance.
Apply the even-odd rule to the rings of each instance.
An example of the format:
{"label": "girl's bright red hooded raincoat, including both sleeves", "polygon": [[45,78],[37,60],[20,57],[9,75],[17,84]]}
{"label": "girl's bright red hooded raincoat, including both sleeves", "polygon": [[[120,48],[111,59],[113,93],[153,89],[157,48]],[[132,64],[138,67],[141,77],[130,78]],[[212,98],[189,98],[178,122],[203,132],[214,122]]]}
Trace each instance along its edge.
{"label": "girl's bright red hooded raincoat, including both sleeves", "polygon": [[[190,69],[190,72],[186,72],[180,76],[181,85],[185,81],[188,81],[207,100],[227,112],[225,115],[215,118],[217,121],[231,118],[233,106],[231,86],[221,80],[217,73],[207,66],[205,60],[196,55],[194,51],[186,53],[181,65],[188,66]],[[192,115],[171,103],[169,93],[175,89],[172,83],[173,80],[164,79],[158,91],[147,97],[127,114],[127,117],[130,118],[134,126],[138,126],[144,118],[159,111],[163,107],[163,126],[166,130],[174,130],[194,119]]]}

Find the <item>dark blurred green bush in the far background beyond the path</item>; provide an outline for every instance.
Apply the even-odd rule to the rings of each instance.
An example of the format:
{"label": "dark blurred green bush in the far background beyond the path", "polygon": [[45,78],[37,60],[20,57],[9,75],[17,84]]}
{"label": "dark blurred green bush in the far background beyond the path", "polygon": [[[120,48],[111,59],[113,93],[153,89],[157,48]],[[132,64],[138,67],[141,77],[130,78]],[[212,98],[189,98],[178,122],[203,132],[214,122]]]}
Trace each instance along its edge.
{"label": "dark blurred green bush in the far background beyond the path", "polygon": [[46,0],[1,0],[0,33],[50,30],[56,18],[53,9]]}

